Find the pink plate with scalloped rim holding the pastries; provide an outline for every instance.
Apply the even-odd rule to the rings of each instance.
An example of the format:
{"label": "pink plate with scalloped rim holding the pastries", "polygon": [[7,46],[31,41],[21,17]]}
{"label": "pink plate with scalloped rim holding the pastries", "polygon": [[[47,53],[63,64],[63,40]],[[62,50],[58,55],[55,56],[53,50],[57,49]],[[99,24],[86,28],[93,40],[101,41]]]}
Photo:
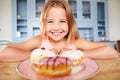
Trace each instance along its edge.
{"label": "pink plate with scalloped rim holding the pastries", "polygon": [[28,79],[35,79],[35,80],[78,80],[78,79],[88,79],[92,76],[94,76],[98,70],[99,65],[91,60],[91,59],[85,59],[84,62],[84,68],[76,73],[70,74],[68,76],[59,77],[59,78],[48,78],[41,75],[37,75],[34,70],[31,68],[32,63],[30,60],[26,60],[18,65],[17,72],[20,73],[25,78]]}

